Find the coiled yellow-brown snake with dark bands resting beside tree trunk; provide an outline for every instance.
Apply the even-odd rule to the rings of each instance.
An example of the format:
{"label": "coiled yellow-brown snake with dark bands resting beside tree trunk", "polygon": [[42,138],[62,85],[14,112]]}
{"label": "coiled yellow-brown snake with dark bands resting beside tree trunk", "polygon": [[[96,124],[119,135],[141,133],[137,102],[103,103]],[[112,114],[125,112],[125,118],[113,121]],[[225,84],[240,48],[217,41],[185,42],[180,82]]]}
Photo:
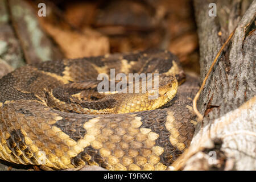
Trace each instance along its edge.
{"label": "coiled yellow-brown snake with dark bands resting beside tree trunk", "polygon": [[[109,74],[110,68],[115,73],[159,73],[159,90],[166,88],[163,83],[169,89],[160,91],[159,98],[171,97],[152,106],[155,101],[140,94],[102,96],[95,90],[97,76]],[[176,96],[172,76],[180,85]],[[161,81],[163,77],[169,82]],[[162,50],[15,69],[0,79],[0,159],[53,169],[88,164],[110,170],[164,170],[189,146],[195,130],[192,98],[198,81],[184,78],[179,60]]]}

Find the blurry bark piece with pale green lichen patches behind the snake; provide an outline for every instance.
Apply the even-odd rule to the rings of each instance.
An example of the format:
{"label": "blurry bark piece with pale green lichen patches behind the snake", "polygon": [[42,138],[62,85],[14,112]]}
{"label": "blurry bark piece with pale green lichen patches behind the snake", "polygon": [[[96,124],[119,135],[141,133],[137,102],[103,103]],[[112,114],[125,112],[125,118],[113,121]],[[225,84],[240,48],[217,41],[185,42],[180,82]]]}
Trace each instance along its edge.
{"label": "blurry bark piece with pale green lichen patches behind the snake", "polygon": [[26,63],[62,59],[63,54],[40,27],[36,12],[27,1],[8,0],[13,24]]}

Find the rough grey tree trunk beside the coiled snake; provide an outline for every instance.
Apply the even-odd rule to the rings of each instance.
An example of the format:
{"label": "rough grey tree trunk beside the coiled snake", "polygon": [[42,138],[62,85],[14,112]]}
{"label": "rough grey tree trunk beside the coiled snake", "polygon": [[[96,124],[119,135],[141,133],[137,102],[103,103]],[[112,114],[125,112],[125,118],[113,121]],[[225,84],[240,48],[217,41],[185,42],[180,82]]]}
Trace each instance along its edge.
{"label": "rough grey tree trunk beside the coiled snake", "polygon": [[[170,169],[255,170],[256,1],[214,1],[217,16],[210,17],[212,2],[194,1],[202,81],[237,28],[200,94],[197,108],[203,122],[196,126],[191,147]],[[213,158],[217,159],[214,164],[209,162]]]}

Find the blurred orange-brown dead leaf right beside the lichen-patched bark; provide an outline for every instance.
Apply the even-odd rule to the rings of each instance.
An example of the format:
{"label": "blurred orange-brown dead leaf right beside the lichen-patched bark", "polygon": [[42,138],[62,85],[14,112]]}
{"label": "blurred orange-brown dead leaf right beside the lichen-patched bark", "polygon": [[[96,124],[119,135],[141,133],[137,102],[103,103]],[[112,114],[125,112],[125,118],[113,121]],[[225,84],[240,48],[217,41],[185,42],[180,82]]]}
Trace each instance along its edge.
{"label": "blurred orange-brown dead leaf right beside the lichen-patched bark", "polygon": [[69,59],[85,56],[98,56],[109,53],[109,40],[106,36],[90,28],[81,32],[55,26],[47,21],[40,21],[44,30],[55,40],[64,56]]}

